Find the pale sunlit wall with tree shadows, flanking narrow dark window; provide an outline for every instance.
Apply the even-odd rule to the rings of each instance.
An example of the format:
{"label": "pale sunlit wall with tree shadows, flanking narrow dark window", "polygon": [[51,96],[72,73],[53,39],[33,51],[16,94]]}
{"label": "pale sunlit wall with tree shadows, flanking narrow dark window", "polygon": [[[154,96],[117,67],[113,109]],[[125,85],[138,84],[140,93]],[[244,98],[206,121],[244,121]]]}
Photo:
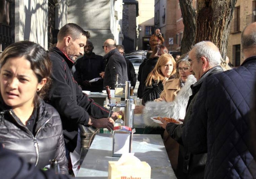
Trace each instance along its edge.
{"label": "pale sunlit wall with tree shadows, flanking narrow dark window", "polygon": [[[56,0],[56,29],[67,23],[67,0]],[[15,42],[30,40],[48,49],[48,1],[15,1]]]}

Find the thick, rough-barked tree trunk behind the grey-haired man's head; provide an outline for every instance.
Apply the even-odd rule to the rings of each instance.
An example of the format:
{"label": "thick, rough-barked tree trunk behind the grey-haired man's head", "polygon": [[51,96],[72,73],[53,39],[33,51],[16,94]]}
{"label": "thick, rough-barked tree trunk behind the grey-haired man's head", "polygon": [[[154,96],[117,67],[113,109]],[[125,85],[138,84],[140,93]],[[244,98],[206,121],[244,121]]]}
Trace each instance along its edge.
{"label": "thick, rough-barked tree trunk behind the grey-haired man's head", "polygon": [[237,0],[198,0],[198,18],[195,43],[213,42],[225,59],[232,21]]}

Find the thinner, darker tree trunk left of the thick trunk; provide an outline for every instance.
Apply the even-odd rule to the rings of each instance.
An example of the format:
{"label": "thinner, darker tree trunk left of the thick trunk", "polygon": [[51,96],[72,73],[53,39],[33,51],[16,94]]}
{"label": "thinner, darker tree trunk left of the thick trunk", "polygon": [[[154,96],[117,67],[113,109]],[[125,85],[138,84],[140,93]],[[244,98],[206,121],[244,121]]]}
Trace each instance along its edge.
{"label": "thinner, darker tree trunk left of the thick trunk", "polygon": [[191,50],[195,43],[196,12],[192,0],[179,0],[179,2],[184,24],[183,38],[180,48],[182,55]]}

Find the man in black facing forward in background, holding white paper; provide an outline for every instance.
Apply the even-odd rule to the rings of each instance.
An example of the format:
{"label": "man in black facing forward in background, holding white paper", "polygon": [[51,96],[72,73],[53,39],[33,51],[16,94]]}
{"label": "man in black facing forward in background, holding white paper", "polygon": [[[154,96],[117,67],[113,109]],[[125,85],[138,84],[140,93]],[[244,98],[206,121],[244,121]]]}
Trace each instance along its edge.
{"label": "man in black facing forward in background, holding white paper", "polygon": [[[103,90],[103,79],[99,73],[105,70],[105,64],[102,56],[93,53],[93,49],[93,43],[87,40],[83,57],[77,59],[75,63],[74,78],[82,90],[101,92]],[[89,82],[95,78],[100,79],[92,83]]]}

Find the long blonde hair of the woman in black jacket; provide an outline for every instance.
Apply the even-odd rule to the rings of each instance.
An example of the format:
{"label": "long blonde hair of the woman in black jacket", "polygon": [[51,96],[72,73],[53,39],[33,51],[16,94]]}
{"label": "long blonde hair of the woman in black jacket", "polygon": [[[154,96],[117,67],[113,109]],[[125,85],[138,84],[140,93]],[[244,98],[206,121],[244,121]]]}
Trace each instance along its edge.
{"label": "long blonde hair of the woman in black jacket", "polygon": [[173,63],[173,71],[170,74],[170,76],[176,73],[176,69],[175,69],[176,62],[173,56],[170,54],[163,54],[158,58],[154,69],[148,74],[148,78],[146,80],[146,86],[151,86],[152,80],[157,81],[157,83],[159,83],[159,81],[164,80],[165,77],[163,76],[163,73],[161,72],[160,68],[161,66],[167,64],[170,60],[172,60],[172,63]]}

